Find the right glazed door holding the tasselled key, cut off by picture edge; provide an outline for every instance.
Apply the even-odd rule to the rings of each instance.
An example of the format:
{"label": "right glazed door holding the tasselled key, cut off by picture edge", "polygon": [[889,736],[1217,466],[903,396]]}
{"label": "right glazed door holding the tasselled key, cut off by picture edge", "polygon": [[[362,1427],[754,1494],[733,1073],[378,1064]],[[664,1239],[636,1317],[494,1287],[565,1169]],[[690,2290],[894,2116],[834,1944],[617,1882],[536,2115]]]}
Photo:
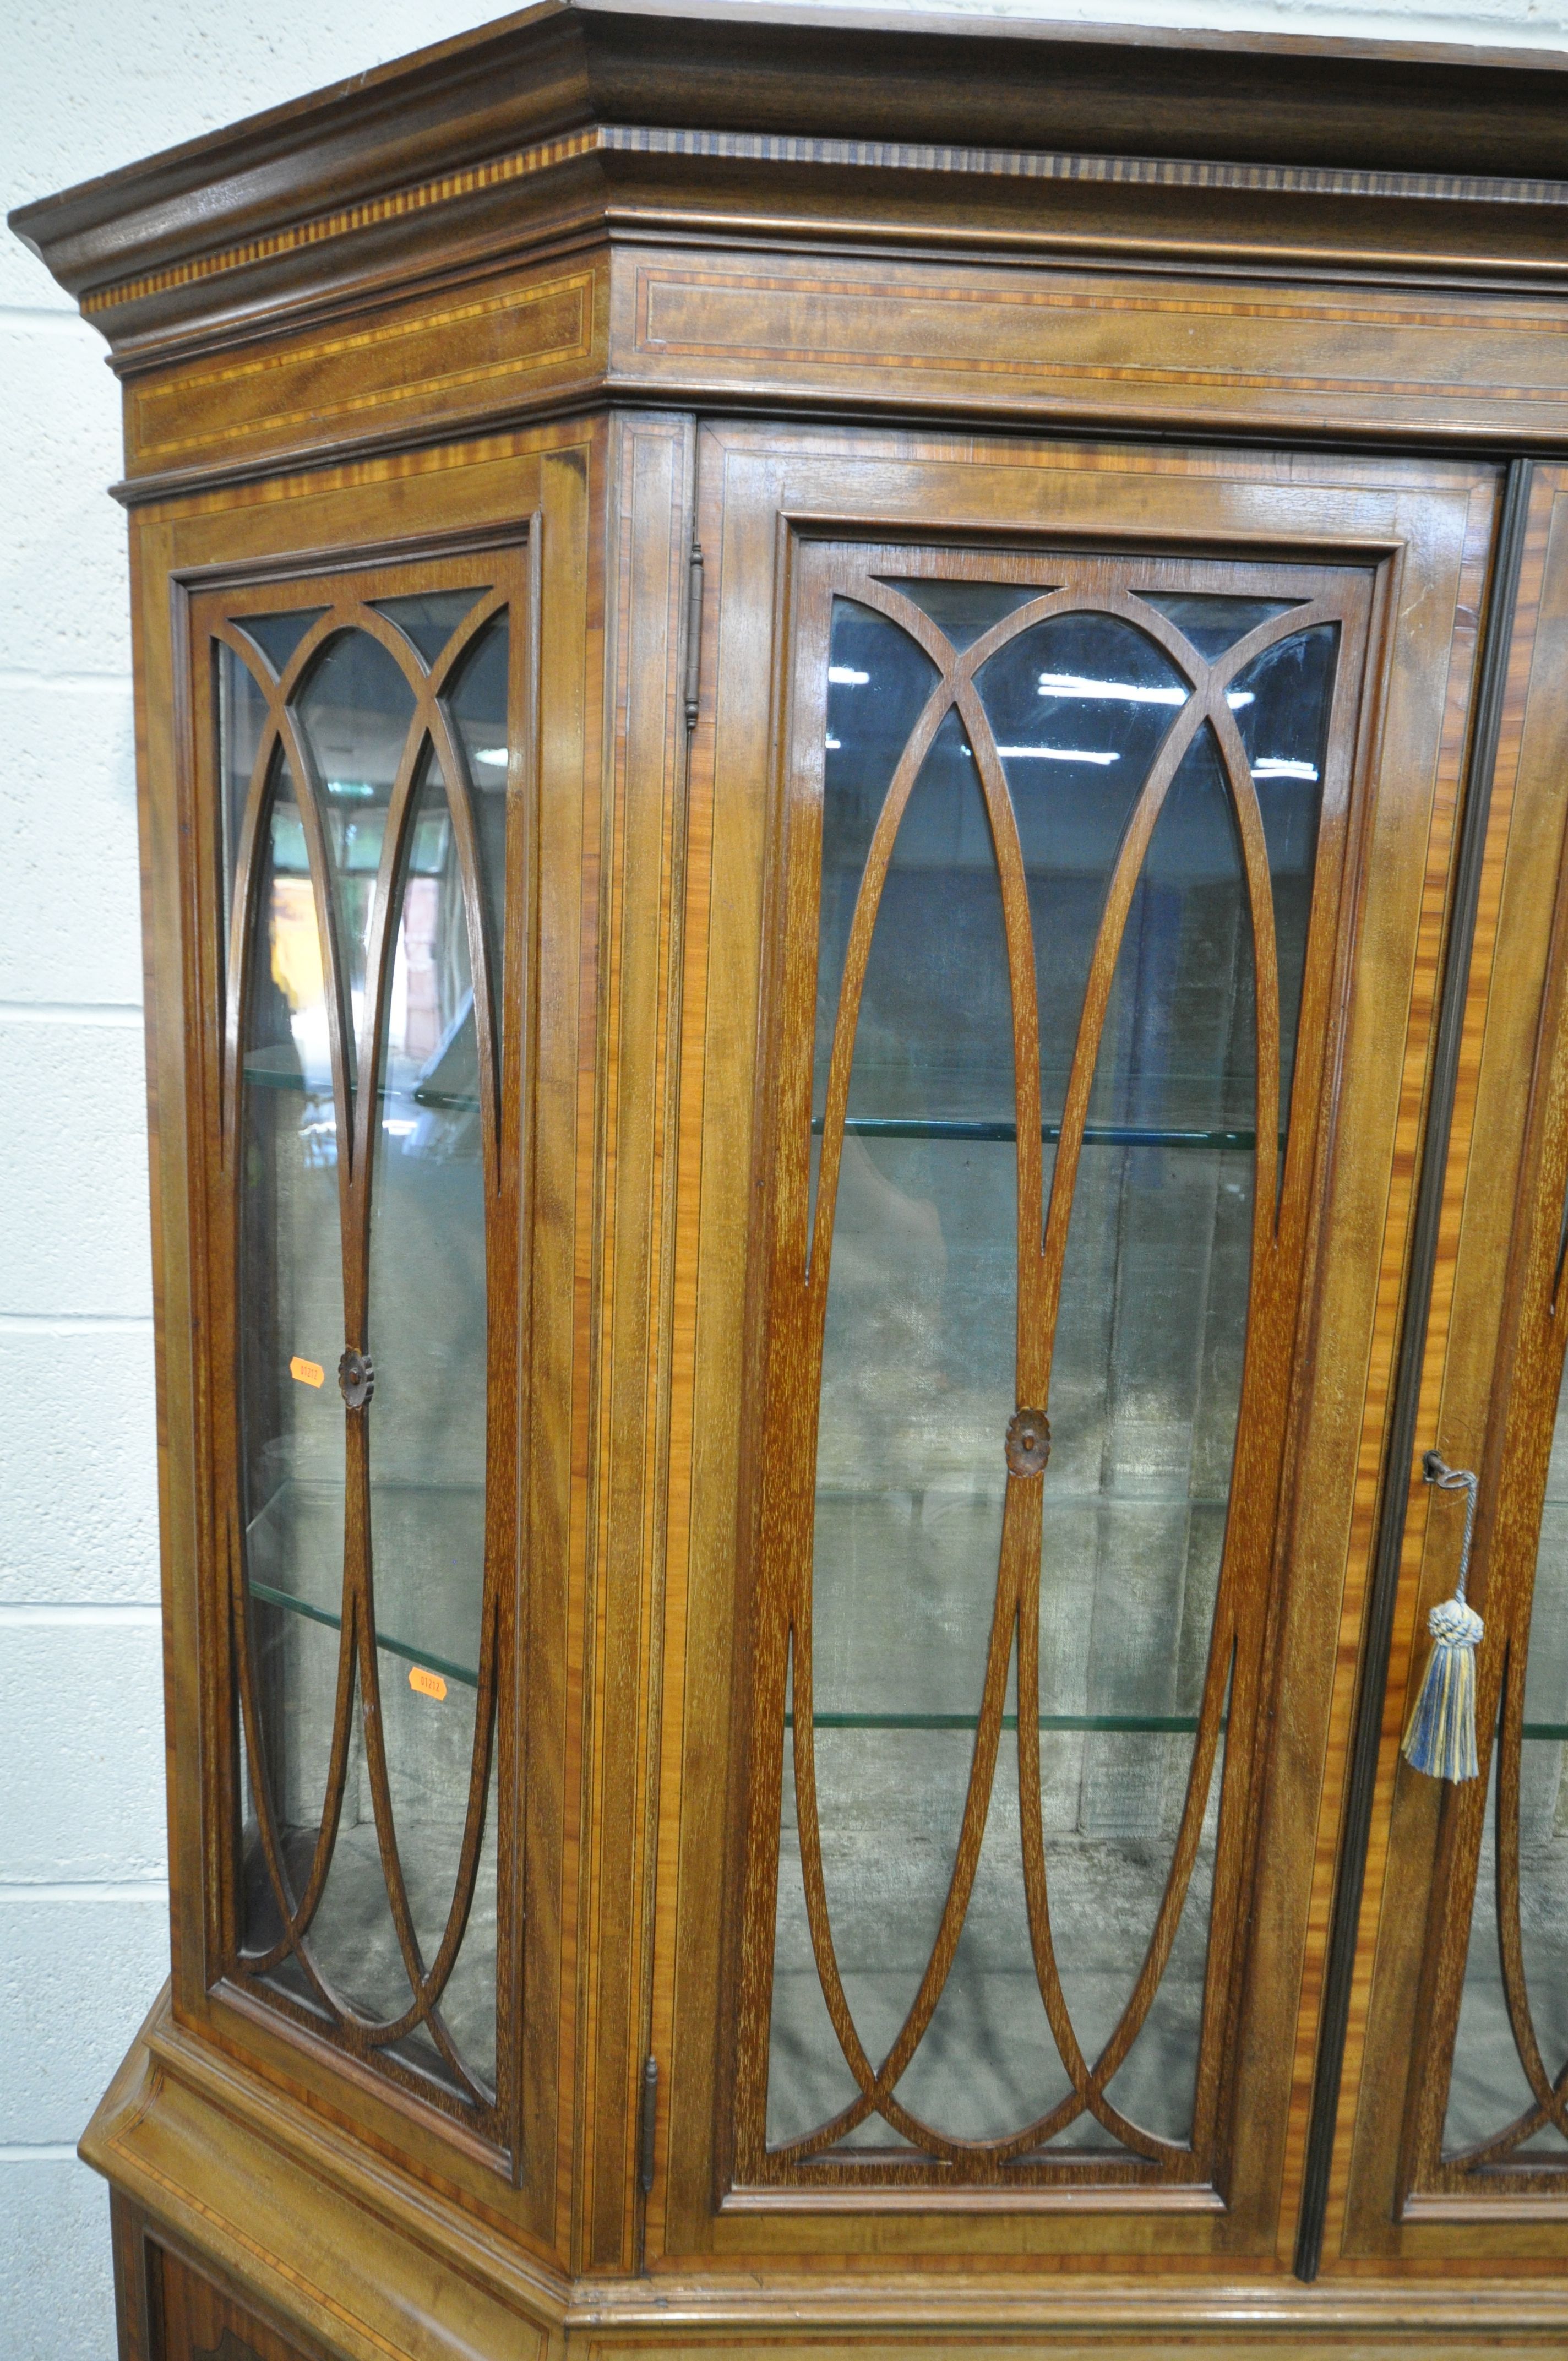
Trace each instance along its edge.
{"label": "right glazed door holding the tasselled key, cut off by picture edge", "polygon": [[1325,2264],[1568,2257],[1568,482],[1518,564],[1419,1447],[1478,1476],[1476,1773],[1400,1759],[1462,1572],[1464,1504],[1412,1497]]}

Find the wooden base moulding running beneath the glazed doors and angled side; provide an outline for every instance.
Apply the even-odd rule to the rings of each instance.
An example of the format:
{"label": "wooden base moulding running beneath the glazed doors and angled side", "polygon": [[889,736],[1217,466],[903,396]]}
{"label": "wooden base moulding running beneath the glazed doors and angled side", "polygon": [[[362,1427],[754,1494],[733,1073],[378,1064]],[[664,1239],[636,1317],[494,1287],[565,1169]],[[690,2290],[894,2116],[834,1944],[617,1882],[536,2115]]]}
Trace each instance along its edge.
{"label": "wooden base moulding running beneath the glazed doors and angled side", "polygon": [[[109,2087],[83,2156],[116,2205],[120,2361],[614,2361],[678,2354],[772,2361],[834,2349],[937,2361],[954,2347],[1089,2354],[1223,2352],[1228,2361],[1563,2352],[1568,2281],[1204,2281],[945,2267],[605,2281],[529,2269],[449,2205],[283,2092],[182,2033],[168,1993]],[[172,2264],[170,2264],[172,2257]],[[179,2304],[170,2302],[170,2269]],[[198,2295],[184,2285],[196,2278]],[[158,2290],[165,2290],[163,2295]],[[179,2309],[184,2307],[184,2309]],[[205,2309],[203,2309],[205,2307]],[[222,2335],[175,2337],[175,2311]],[[227,2342],[224,2342],[227,2337]]]}

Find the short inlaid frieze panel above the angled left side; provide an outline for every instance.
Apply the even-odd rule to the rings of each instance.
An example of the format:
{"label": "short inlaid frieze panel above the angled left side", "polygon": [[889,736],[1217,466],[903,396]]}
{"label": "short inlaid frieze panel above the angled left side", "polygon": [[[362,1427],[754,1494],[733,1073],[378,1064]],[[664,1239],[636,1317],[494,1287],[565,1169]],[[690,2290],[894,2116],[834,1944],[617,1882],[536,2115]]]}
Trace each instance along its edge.
{"label": "short inlaid frieze panel above the angled left side", "polygon": [[125,401],[132,479],[229,472],[468,425],[583,382],[605,345],[597,267],[465,286],[354,326],[224,354]]}

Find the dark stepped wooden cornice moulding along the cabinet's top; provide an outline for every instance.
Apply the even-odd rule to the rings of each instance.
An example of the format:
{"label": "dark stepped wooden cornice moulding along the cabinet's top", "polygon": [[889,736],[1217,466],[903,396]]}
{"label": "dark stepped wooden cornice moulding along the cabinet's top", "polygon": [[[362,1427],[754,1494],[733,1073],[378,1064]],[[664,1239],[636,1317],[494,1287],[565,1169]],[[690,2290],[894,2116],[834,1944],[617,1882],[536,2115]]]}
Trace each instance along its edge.
{"label": "dark stepped wooden cornice moulding along the cabinet's top", "polygon": [[12,227],[125,366],[621,212],[1554,274],[1563,99],[1547,52],[543,0]]}

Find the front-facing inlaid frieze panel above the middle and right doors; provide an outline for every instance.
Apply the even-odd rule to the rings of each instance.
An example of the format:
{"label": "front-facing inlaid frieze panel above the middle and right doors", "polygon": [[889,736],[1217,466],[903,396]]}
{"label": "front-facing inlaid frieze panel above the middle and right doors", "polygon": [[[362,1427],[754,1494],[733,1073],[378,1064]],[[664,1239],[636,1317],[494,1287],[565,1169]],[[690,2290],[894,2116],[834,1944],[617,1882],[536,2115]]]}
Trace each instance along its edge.
{"label": "front-facing inlaid frieze panel above the middle and right doors", "polygon": [[1455,300],[1152,274],[616,253],[612,382],[1034,418],[1561,434],[1568,323]]}

